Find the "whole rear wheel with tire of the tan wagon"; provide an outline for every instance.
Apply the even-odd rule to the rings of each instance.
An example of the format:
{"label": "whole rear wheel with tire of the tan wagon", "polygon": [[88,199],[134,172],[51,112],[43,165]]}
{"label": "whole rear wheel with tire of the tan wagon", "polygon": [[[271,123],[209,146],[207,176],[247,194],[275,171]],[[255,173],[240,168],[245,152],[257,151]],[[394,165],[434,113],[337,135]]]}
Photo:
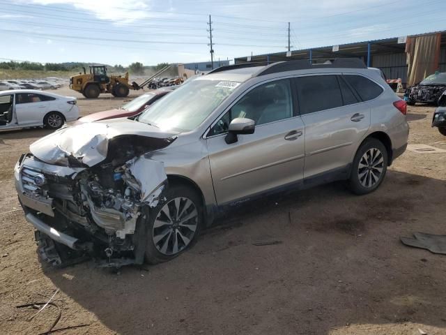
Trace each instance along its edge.
{"label": "whole rear wheel with tire of the tan wagon", "polygon": [[369,138],[361,144],[353,159],[349,188],[357,195],[371,193],[383,182],[388,163],[383,142]]}

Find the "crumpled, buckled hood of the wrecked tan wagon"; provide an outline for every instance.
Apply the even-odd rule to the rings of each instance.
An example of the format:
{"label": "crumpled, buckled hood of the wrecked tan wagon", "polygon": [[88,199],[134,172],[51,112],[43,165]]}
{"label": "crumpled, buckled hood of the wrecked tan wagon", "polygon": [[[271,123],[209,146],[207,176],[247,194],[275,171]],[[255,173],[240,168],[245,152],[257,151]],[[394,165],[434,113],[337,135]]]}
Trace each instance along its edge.
{"label": "crumpled, buckled hood of the wrecked tan wagon", "polygon": [[176,133],[130,119],[112,119],[61,128],[37,140],[29,149],[45,163],[69,166],[71,161],[91,167],[105,160],[109,141],[121,135],[167,139]]}

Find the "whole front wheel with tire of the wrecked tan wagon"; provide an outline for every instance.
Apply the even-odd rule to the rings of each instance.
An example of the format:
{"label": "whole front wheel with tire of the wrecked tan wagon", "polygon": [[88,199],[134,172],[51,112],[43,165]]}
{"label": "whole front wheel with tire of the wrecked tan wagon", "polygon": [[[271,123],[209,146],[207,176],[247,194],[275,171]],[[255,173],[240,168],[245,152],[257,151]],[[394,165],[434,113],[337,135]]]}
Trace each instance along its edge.
{"label": "whole front wheel with tire of the wrecked tan wagon", "polygon": [[167,262],[190,248],[203,222],[201,199],[187,186],[171,185],[166,200],[151,211],[146,262]]}

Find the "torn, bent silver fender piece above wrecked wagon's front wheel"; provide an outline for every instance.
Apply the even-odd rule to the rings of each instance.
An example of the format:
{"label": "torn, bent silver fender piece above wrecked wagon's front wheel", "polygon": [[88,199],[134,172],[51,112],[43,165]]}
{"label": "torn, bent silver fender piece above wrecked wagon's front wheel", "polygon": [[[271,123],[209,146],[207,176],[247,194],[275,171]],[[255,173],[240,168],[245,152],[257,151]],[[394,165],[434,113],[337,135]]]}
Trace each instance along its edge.
{"label": "torn, bent silver fender piece above wrecked wagon's front wheel", "polygon": [[135,157],[127,162],[128,169],[136,179],[141,192],[141,202],[148,202],[151,207],[157,205],[164,182],[167,180],[164,164],[144,156]]}

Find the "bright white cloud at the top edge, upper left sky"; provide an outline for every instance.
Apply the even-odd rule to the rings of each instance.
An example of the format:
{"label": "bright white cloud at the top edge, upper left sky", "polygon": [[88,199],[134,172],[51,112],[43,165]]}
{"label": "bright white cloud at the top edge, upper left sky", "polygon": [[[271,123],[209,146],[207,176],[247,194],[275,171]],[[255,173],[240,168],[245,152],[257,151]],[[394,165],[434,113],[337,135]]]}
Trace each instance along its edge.
{"label": "bright white cloud at the top edge, upper left sky", "polygon": [[132,22],[148,17],[148,0],[31,0],[40,5],[72,5],[77,9],[87,10],[100,20],[122,20]]}

